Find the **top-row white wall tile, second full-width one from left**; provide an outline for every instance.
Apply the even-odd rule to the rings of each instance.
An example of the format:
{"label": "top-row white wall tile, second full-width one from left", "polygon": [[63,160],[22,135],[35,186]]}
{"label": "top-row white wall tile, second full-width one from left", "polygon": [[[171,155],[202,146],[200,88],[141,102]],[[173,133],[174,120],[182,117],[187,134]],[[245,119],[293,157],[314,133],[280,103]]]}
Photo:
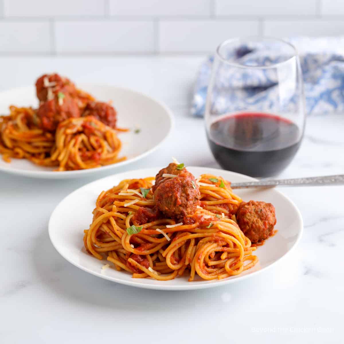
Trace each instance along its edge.
{"label": "top-row white wall tile, second full-width one from left", "polygon": [[213,0],[110,0],[110,15],[210,15]]}

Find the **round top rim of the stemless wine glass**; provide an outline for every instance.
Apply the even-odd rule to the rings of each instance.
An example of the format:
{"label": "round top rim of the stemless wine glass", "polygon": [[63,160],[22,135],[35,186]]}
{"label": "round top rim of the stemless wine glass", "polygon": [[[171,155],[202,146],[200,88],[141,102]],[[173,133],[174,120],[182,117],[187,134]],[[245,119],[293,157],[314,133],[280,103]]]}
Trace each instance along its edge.
{"label": "round top rim of the stemless wine glass", "polygon": [[[232,62],[232,61],[229,61],[227,58],[225,58],[224,56],[222,56],[222,54],[220,53],[220,49],[228,44],[228,43],[231,43],[231,42],[235,42],[235,41],[240,41],[240,40],[249,40],[249,39],[256,39],[256,40],[261,40],[261,41],[264,41],[264,40],[273,40],[273,41],[276,41],[276,42],[280,42],[280,43],[283,43],[283,44],[286,44],[286,45],[289,45],[289,47],[291,47],[291,49],[294,51],[294,53],[292,54],[292,56],[290,56],[289,58],[287,58],[286,60],[284,61],[281,61],[281,62],[277,62],[277,63],[272,63],[271,65],[269,66],[246,66],[246,65],[243,65],[241,63],[236,63],[236,62]],[[216,55],[217,57],[227,63],[228,65],[232,65],[234,67],[237,67],[237,68],[244,68],[244,69],[268,69],[268,68],[276,68],[278,67],[279,65],[282,65],[284,63],[287,63],[289,62],[292,58],[294,57],[299,57],[299,52],[298,50],[296,49],[296,47],[291,44],[290,42],[286,41],[286,40],[283,40],[281,38],[276,38],[276,37],[271,37],[271,36],[245,36],[245,37],[236,37],[236,38],[229,38],[228,40],[225,40],[223,41],[221,44],[219,44],[216,48]]]}

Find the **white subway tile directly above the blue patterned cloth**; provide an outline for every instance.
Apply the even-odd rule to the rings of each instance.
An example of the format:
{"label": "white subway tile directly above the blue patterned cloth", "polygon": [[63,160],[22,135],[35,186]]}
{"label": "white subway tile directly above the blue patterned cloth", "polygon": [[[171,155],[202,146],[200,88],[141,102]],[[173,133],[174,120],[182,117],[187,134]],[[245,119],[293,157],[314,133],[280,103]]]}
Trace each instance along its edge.
{"label": "white subway tile directly above the blue patterned cloth", "polygon": [[266,36],[334,36],[344,35],[344,20],[266,20]]}

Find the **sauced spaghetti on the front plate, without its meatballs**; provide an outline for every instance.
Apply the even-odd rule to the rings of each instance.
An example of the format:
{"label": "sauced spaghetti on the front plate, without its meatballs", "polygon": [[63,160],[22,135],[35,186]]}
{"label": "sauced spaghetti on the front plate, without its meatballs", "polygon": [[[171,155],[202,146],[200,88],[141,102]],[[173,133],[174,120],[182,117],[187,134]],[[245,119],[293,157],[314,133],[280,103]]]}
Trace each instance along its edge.
{"label": "sauced spaghetti on the front plate, without its meatballs", "polygon": [[[157,175],[155,185],[178,176],[161,178]],[[118,271],[132,273],[133,278],[161,281],[186,271],[189,281],[195,275],[205,280],[223,279],[239,275],[258,262],[252,254],[256,247],[251,246],[231,214],[230,209],[237,209],[241,199],[228,182],[201,175],[195,185],[192,183],[200,191],[195,212],[176,219],[154,213],[159,207],[155,197],[159,186],[153,193],[153,181],[154,177],[123,180],[101,192],[92,224],[84,231],[89,254],[106,258]],[[148,214],[143,221],[146,223],[138,223],[139,213]],[[150,218],[149,214],[156,216]]]}

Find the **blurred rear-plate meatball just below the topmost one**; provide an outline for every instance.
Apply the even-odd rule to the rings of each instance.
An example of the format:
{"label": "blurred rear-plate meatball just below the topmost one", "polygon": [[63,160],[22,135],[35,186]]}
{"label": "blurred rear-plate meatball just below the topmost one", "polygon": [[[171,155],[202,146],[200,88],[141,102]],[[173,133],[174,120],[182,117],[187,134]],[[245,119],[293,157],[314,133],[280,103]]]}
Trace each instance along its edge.
{"label": "blurred rear-plate meatball just below the topmost one", "polygon": [[47,131],[56,130],[58,123],[70,117],[80,117],[80,111],[76,101],[67,94],[63,98],[55,97],[44,102],[37,111],[37,117],[41,121],[41,127]]}

